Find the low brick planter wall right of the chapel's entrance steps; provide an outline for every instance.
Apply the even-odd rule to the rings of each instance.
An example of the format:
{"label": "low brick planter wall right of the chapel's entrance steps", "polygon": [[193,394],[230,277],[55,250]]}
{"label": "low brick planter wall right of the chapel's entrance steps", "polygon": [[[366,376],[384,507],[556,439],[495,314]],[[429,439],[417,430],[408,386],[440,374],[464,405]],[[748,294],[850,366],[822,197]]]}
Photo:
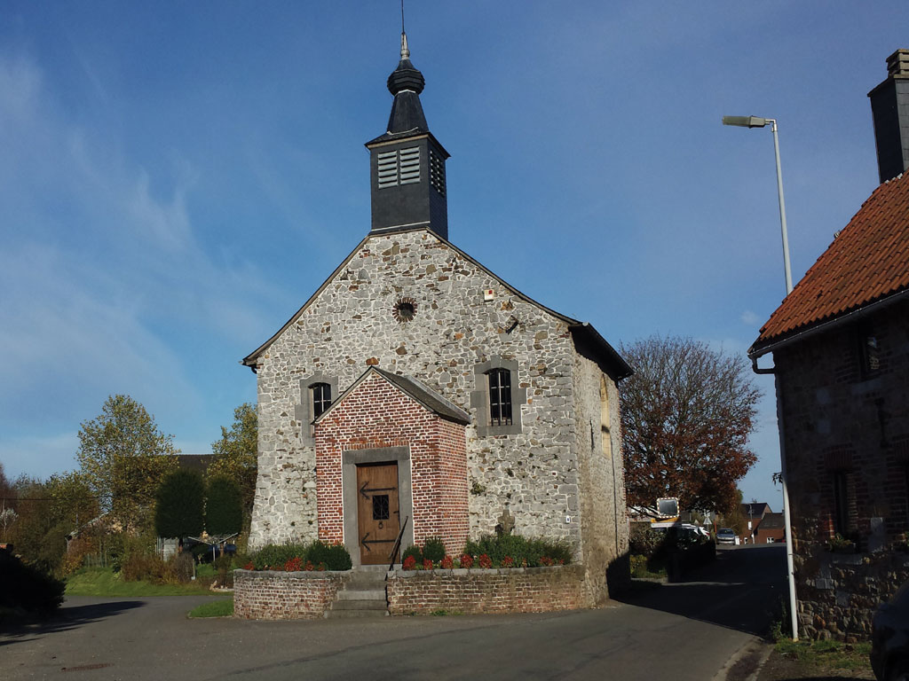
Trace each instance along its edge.
{"label": "low brick planter wall right of the chapel's entrance steps", "polygon": [[584,568],[395,570],[387,581],[392,615],[548,612],[590,607]]}

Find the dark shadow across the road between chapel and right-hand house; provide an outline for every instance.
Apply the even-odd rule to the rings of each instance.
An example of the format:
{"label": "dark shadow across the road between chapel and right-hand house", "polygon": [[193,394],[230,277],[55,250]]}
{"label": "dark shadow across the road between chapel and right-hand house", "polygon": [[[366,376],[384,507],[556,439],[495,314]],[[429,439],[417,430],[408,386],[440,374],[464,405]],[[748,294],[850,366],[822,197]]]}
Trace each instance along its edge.
{"label": "dark shadow across the road between chapel and right-hand house", "polygon": [[719,549],[714,562],[682,581],[635,580],[614,600],[764,636],[786,595],[785,564],[781,546]]}

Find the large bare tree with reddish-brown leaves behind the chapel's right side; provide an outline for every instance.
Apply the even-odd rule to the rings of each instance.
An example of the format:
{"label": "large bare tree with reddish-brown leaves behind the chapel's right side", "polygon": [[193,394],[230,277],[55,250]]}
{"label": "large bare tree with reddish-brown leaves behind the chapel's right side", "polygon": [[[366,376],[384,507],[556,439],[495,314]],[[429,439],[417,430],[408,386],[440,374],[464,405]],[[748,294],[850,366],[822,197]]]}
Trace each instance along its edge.
{"label": "large bare tree with reddish-brown leaves behind the chapel's right side", "polygon": [[677,497],[682,508],[731,511],[761,392],[744,358],[691,338],[652,336],[623,346],[634,375],[622,384],[625,487],[632,505]]}

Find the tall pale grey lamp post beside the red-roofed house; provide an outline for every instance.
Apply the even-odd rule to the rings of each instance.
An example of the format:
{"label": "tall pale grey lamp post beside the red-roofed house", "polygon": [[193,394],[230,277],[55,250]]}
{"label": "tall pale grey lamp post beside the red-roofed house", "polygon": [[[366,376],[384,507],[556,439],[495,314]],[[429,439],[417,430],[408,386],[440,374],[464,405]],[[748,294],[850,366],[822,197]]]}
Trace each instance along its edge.
{"label": "tall pale grey lamp post beside the red-roofed house", "polygon": [[[783,199],[783,171],[780,167],[780,140],[776,133],[776,119],[759,118],[758,116],[723,116],[724,125],[736,125],[742,128],[763,128],[770,124],[774,133],[774,154],[776,157],[776,193],[780,202],[780,229],[783,232],[783,267],[786,278],[786,295],[793,292],[793,275],[789,266],[789,235],[786,232],[786,204]],[[757,371],[757,364],[754,364]],[[761,373],[774,372],[774,370],[761,370]],[[780,481],[783,484],[783,521],[786,538],[786,572],[789,582],[789,614],[793,629],[793,640],[798,640],[798,612],[795,601],[795,568],[793,564],[793,525],[789,514],[789,488],[786,486],[786,454],[783,437],[783,411],[780,410],[780,380],[774,377],[776,388],[776,419],[780,431]]]}

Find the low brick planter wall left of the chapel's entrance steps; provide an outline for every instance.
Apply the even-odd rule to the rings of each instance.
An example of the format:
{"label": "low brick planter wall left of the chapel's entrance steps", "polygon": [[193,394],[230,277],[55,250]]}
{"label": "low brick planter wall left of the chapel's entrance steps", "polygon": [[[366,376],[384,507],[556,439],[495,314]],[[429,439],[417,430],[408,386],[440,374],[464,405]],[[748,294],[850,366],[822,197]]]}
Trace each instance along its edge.
{"label": "low brick planter wall left of the chapel's entrance steps", "polygon": [[350,572],[234,570],[234,617],[318,619]]}

